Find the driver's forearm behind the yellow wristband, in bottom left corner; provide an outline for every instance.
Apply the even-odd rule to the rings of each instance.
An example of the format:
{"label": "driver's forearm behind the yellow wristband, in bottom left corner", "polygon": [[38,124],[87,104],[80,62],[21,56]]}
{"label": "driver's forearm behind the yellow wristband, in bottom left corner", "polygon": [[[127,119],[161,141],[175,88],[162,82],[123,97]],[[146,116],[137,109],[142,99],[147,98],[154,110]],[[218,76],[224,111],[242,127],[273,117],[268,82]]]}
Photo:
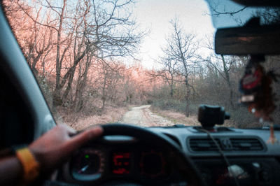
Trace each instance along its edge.
{"label": "driver's forearm behind the yellow wristband, in bottom left corner", "polygon": [[15,156],[0,159],[0,185],[16,185],[20,183],[22,165]]}

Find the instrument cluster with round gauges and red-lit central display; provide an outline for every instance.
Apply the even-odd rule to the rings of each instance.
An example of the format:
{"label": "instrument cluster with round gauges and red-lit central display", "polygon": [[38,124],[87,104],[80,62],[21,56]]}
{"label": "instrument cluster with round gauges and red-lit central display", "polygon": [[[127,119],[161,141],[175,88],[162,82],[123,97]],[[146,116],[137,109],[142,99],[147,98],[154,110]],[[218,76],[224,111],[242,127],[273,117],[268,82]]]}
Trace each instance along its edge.
{"label": "instrument cluster with round gauges and red-lit central display", "polygon": [[91,146],[78,150],[69,162],[69,174],[78,182],[102,180],[166,180],[172,173],[169,152],[144,145]]}

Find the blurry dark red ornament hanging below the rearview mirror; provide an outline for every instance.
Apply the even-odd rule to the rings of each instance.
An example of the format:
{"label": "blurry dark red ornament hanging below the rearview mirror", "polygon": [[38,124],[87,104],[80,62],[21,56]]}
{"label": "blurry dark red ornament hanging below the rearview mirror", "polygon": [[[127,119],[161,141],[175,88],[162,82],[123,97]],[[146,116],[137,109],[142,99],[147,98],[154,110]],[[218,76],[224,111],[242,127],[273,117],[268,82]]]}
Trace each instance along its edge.
{"label": "blurry dark red ornament hanging below the rearview mirror", "polygon": [[272,80],[276,81],[276,75],[273,71],[265,72],[261,65],[265,62],[262,55],[252,55],[249,60],[245,74],[240,80],[239,90],[241,92],[240,103],[244,103],[250,113],[262,121],[270,122],[270,136],[267,143],[275,144],[277,142],[274,136],[274,127],[271,114],[275,110],[275,99],[272,93]]}

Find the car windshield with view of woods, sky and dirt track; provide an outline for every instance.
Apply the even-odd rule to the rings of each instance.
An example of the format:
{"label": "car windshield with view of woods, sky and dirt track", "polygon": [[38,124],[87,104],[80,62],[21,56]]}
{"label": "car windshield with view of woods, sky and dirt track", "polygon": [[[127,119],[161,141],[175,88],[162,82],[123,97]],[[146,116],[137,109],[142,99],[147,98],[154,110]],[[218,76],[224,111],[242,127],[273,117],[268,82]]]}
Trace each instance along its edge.
{"label": "car windshield with view of woods, sky and dirt track", "polygon": [[[277,22],[275,8],[210,0],[4,0],[2,6],[57,123],[193,126],[200,125],[200,104],[210,104],[230,113],[227,127],[265,125],[239,103],[248,56],[216,55],[214,34],[258,15]],[[279,59],[266,56],[265,71],[279,73]],[[279,83],[272,87],[276,100]],[[279,123],[279,108],[271,116]]]}

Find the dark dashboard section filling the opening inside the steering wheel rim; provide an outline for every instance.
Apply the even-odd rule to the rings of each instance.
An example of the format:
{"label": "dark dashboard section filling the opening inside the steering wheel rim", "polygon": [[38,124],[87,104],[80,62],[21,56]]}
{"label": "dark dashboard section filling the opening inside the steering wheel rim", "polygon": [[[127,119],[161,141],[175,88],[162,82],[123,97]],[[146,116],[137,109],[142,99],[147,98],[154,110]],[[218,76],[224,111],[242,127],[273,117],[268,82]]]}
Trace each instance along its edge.
{"label": "dark dashboard section filling the opening inside the steering wheel rim", "polygon": [[[128,136],[105,136],[76,152],[64,167],[64,178],[77,184],[113,183],[164,185],[182,180],[172,152]],[[113,184],[115,185],[115,184]]]}

